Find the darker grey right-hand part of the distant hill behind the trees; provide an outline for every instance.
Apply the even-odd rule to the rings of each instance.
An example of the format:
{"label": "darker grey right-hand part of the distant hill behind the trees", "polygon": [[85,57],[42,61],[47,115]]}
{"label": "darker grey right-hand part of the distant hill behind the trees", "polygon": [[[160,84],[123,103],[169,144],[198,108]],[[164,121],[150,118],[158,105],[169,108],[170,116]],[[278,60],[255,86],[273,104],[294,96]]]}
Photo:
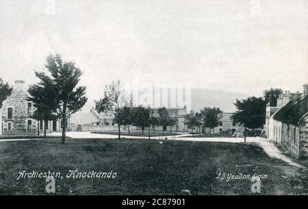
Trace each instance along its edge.
{"label": "darker grey right-hand part of the distant hill behind the trees", "polygon": [[208,89],[192,89],[192,109],[200,111],[203,107],[219,107],[226,113],[236,110],[234,102],[236,99],[244,99],[248,96],[235,92],[224,92]]}

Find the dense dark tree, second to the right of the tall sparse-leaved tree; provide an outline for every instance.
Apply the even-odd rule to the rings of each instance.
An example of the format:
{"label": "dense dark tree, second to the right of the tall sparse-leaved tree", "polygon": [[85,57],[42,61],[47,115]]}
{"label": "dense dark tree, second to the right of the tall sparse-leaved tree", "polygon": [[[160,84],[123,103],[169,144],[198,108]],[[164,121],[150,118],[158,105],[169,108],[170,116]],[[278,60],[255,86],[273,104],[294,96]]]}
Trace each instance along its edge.
{"label": "dense dark tree, second to the right of the tall sparse-leaved tree", "polygon": [[144,107],[143,105],[139,105],[133,111],[134,126],[140,126],[142,129],[142,135],[144,133],[144,128],[150,127],[150,115],[151,109],[149,107]]}

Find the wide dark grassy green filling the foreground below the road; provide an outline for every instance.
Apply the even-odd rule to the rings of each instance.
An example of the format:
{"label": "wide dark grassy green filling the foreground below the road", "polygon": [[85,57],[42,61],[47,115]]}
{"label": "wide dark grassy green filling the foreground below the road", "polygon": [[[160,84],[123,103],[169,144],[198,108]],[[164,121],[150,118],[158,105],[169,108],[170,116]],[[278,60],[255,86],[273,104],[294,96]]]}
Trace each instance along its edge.
{"label": "wide dark grassy green filling the foreground below the road", "polygon": [[[267,175],[261,195],[308,193],[307,169],[269,158],[257,145],[146,139],[59,139],[0,143],[0,194],[47,194],[44,178],[20,171],[60,172],[56,195],[251,195],[248,179],[219,173]],[[112,171],[116,178],[66,178],[68,170]],[[189,191],[189,192],[188,192]]]}

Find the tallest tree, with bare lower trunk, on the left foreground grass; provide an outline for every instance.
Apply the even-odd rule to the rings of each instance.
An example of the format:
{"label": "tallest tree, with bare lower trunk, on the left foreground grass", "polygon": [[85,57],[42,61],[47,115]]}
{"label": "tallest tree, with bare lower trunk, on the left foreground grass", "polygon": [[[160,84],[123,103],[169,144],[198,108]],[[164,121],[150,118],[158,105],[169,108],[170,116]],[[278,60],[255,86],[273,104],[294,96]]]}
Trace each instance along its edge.
{"label": "tallest tree, with bare lower trunk, on the left foreground grass", "polygon": [[[57,116],[62,118],[62,144],[66,139],[66,122],[68,117],[79,111],[88,98],[86,87],[77,87],[82,72],[75,66],[73,61],[62,61],[61,55],[49,55],[45,65],[51,76],[40,72],[39,79],[45,83],[42,78],[47,78],[53,82],[55,98],[57,99]],[[49,80],[48,79],[48,80]]]}

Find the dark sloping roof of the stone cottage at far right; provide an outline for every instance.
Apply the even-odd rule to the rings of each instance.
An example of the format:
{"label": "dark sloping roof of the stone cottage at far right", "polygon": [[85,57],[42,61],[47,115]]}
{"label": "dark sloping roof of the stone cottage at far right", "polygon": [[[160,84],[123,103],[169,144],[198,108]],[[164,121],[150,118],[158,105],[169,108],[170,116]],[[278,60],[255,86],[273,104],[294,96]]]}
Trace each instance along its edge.
{"label": "dark sloping roof of the stone cottage at far right", "polygon": [[281,107],[273,116],[285,124],[298,125],[300,119],[308,112],[308,96],[301,100],[291,100],[285,106]]}

